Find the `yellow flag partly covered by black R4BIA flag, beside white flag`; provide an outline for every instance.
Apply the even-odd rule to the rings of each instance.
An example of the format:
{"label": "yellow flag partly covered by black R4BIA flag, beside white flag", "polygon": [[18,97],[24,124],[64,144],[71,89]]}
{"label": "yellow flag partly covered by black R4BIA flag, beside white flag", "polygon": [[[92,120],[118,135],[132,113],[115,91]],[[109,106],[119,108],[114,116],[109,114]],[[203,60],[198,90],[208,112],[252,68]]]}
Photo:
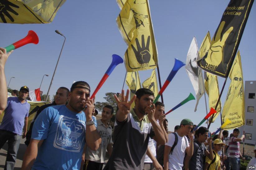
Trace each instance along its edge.
{"label": "yellow flag partly covered by black R4BIA flag, beside white flag", "polygon": [[[202,58],[207,54],[211,45],[211,36],[209,31],[207,32],[199,50],[199,56]],[[219,98],[219,85],[218,85],[218,78],[216,75],[205,72],[204,74],[204,84],[205,84],[205,91],[209,96],[209,110],[212,108],[215,109],[216,102]],[[217,113],[214,114],[212,122],[217,118],[221,110],[221,102],[219,102],[218,107],[216,109]],[[209,119],[211,120],[211,119]]]}

